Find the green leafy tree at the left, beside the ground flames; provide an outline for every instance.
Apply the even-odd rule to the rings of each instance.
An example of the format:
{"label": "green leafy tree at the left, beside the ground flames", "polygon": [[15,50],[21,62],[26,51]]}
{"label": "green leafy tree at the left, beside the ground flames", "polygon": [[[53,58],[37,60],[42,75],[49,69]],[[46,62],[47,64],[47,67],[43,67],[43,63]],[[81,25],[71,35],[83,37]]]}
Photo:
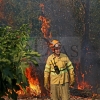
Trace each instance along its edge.
{"label": "green leafy tree at the left, beside the ground flames", "polygon": [[30,29],[22,25],[18,30],[0,27],[0,100],[6,95],[17,100],[20,86],[25,90],[28,81],[25,70],[30,63],[38,65],[40,54],[28,44]]}

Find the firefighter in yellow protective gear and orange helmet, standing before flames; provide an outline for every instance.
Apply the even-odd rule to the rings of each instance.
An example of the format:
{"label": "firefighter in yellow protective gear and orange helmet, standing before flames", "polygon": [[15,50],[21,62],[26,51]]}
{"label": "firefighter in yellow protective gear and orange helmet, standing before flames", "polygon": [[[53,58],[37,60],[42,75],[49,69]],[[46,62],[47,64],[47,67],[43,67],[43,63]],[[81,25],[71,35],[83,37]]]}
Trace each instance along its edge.
{"label": "firefighter in yellow protective gear and orange helmet, standing before flames", "polygon": [[[51,100],[69,100],[69,86],[75,82],[74,67],[68,56],[61,53],[61,43],[58,40],[51,42],[53,53],[48,57],[44,69],[44,87],[49,90]],[[50,83],[49,83],[50,80]]]}

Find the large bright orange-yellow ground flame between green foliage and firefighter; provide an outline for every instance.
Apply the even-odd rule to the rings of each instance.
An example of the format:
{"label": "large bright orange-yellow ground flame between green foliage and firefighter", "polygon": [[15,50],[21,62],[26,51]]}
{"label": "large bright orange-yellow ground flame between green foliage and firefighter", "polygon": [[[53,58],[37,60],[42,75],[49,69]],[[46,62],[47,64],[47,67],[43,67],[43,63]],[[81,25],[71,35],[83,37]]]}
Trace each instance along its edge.
{"label": "large bright orange-yellow ground flame between green foliage and firefighter", "polygon": [[[30,95],[32,94],[34,96],[40,96],[41,89],[40,89],[38,77],[36,76],[35,68],[33,69],[32,66],[26,68],[25,75],[26,75],[26,77],[28,79],[28,83],[29,83],[29,87],[26,87],[26,93],[28,93]],[[20,85],[18,85],[18,86],[20,87],[20,90],[17,91],[16,93],[18,95],[25,95],[25,92],[22,89],[22,87]]]}

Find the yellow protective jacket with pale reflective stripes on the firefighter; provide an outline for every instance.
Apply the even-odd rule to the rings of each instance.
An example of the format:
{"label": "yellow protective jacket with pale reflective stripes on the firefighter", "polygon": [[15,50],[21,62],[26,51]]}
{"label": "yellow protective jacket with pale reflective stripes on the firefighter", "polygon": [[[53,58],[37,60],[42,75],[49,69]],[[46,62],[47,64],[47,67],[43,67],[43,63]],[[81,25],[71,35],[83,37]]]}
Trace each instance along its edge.
{"label": "yellow protective jacket with pale reflective stripes on the firefighter", "polygon": [[[54,70],[55,63],[60,70],[60,74],[55,73]],[[59,57],[55,57],[54,54],[51,54],[48,57],[45,65],[44,78],[50,77],[50,84],[63,84],[69,82],[68,72],[71,69],[74,69],[74,67],[66,54],[60,53]],[[74,72],[72,72],[72,74],[74,74]]]}

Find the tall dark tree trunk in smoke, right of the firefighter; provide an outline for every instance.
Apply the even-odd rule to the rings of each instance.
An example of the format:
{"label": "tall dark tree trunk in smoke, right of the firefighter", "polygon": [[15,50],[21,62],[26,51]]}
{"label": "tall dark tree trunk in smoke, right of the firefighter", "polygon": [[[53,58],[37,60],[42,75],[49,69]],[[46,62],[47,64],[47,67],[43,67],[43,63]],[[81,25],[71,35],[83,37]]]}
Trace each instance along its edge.
{"label": "tall dark tree trunk in smoke, right of the firefighter", "polygon": [[[90,50],[90,43],[89,43],[89,4],[90,0],[85,0],[84,6],[84,34],[82,38],[82,45],[81,45],[81,70],[84,74],[84,79],[82,81],[86,81],[88,76],[85,75],[85,72],[89,70],[90,64],[90,55],[87,55]],[[88,73],[88,72],[87,72]]]}

